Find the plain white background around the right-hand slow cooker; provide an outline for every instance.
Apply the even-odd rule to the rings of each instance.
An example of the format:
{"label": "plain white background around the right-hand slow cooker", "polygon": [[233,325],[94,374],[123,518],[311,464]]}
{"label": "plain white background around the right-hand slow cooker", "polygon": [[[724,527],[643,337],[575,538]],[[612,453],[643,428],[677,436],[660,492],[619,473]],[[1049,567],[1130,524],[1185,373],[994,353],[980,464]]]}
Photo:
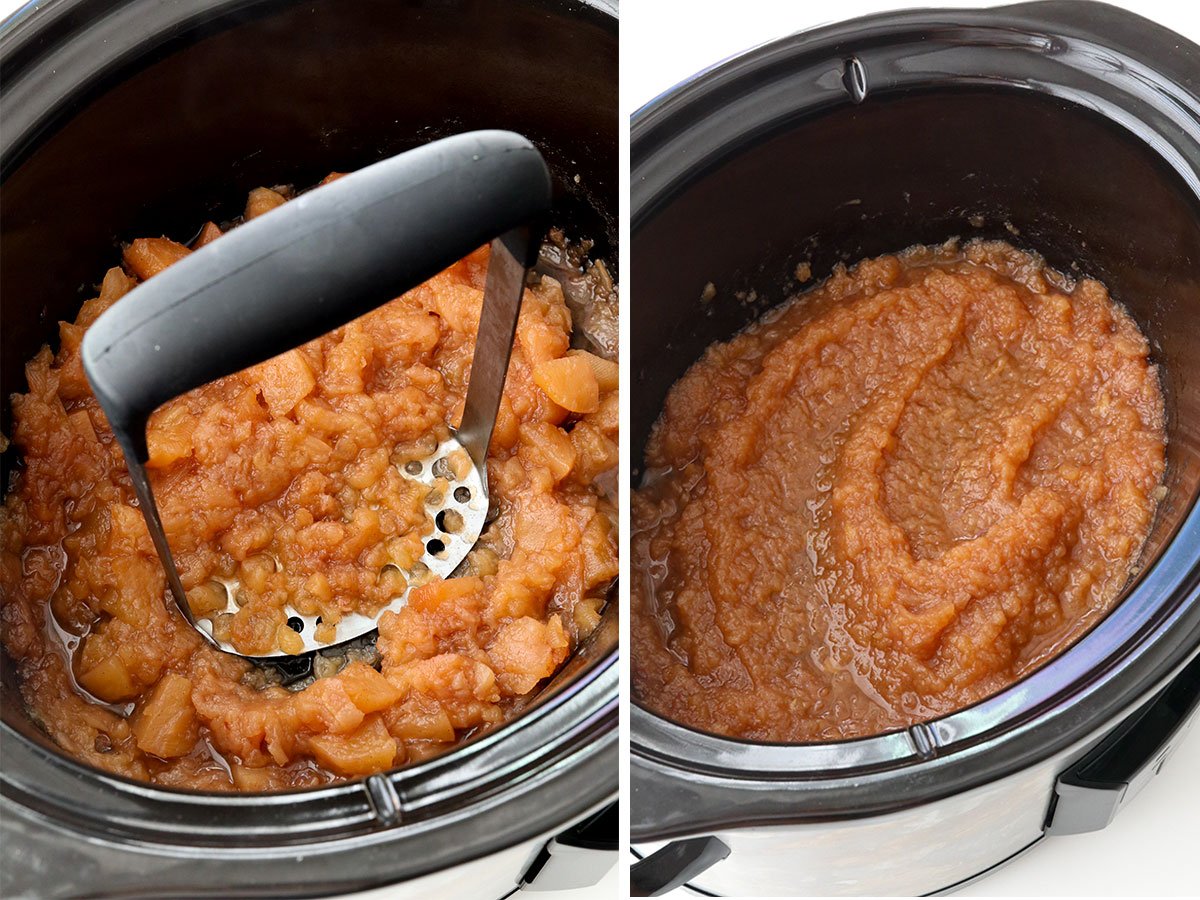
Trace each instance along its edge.
{"label": "plain white background around the right-hand slow cooker", "polygon": [[[988,2],[624,0],[620,94],[626,113],[692,73],[806,28],[913,6]],[[1200,42],[1194,0],[1117,2]],[[628,246],[628,244],[626,244]],[[636,248],[635,248],[636,252]],[[678,892],[676,892],[678,893]],[[1050,838],[956,896],[1195,896],[1200,894],[1200,727],[1109,828]]]}

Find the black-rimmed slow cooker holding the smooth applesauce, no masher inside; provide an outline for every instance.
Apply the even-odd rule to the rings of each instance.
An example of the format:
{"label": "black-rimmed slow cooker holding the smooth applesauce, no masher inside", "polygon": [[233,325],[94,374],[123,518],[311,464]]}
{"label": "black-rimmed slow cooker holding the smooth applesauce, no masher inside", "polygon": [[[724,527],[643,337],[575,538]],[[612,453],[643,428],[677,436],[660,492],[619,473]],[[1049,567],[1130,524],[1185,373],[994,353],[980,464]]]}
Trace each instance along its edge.
{"label": "black-rimmed slow cooker holding the smooth applesauce, no masher inside", "polygon": [[1200,704],[1200,47],[1094,2],[884,13],[674,88],[634,116],[630,156],[635,485],[672,383],[794,293],[798,263],[820,278],[952,236],[1104,281],[1150,337],[1169,408],[1139,574],[1001,694],[782,745],[683,727],[635,692],[632,893],[929,894],[1103,828]]}

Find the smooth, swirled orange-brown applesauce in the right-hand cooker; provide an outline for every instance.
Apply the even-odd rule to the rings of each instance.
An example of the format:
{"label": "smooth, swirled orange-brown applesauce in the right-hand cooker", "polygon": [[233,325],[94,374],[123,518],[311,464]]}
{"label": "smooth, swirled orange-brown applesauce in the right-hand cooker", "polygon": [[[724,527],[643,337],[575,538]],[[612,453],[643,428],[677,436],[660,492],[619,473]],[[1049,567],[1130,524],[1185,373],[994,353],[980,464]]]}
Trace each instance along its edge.
{"label": "smooth, swirled orange-brown applesauce in the right-hand cooker", "polygon": [[875,734],[1021,678],[1116,601],[1164,469],[1146,338],[1013,247],[839,268],[672,388],[632,500],[638,702]]}

